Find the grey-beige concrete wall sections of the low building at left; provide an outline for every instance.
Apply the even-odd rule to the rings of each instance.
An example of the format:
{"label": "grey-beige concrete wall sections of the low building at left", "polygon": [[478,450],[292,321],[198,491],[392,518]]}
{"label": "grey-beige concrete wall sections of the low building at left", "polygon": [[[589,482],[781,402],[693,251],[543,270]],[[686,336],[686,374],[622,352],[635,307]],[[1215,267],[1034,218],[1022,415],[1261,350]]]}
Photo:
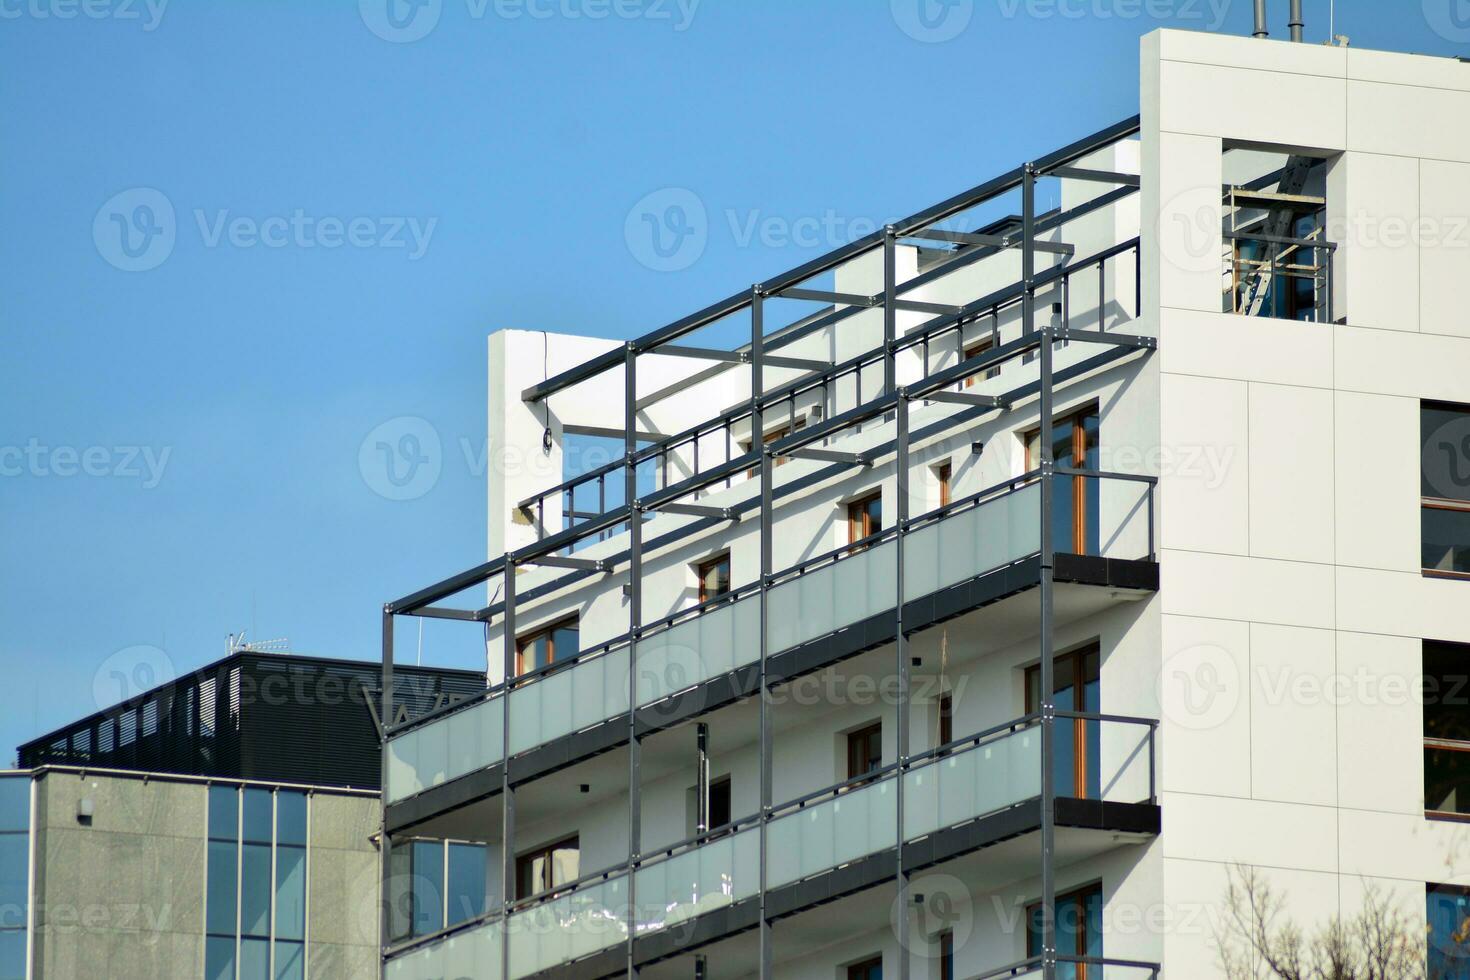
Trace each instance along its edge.
{"label": "grey-beige concrete wall sections of the low building at left", "polygon": [[[166,776],[37,777],[34,980],[204,974],[207,798]],[[375,976],[379,801],[318,790],[307,813],[307,976]]]}

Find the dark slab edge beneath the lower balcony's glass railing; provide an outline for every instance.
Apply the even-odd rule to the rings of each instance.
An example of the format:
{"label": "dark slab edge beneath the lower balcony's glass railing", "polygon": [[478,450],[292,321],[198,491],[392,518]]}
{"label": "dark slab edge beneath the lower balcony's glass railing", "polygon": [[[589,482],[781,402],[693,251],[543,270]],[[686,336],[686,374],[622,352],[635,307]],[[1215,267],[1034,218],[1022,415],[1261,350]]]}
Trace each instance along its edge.
{"label": "dark slab edge beneath the lower balcony's glass railing", "polygon": [[[1095,799],[1057,799],[1057,827],[1091,833],[1157,835],[1160,808],[1151,804],[1114,804]],[[904,845],[904,867],[925,868],[975,854],[1007,840],[1036,835],[1041,829],[1041,799],[948,827]],[[792,884],[772,889],[766,907],[772,920],[808,911],[826,902],[889,883],[898,874],[898,849],[888,848]],[[750,898],[722,909],[706,912],[634,943],[638,967],[692,952],[700,946],[729,939],[756,929],[760,923],[759,899]],[[538,980],[592,980],[620,976],[628,970],[628,948],[619,945],[585,959],[535,974]]]}

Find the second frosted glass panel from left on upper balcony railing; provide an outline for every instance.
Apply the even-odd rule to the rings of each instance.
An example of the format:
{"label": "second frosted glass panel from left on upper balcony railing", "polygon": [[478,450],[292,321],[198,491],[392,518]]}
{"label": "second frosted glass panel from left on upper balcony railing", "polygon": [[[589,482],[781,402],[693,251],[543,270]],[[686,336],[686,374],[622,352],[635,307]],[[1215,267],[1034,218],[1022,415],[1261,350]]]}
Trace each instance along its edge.
{"label": "second frosted glass panel from left on upper balcony railing", "polygon": [[591,657],[510,692],[510,752],[628,711],[628,648]]}

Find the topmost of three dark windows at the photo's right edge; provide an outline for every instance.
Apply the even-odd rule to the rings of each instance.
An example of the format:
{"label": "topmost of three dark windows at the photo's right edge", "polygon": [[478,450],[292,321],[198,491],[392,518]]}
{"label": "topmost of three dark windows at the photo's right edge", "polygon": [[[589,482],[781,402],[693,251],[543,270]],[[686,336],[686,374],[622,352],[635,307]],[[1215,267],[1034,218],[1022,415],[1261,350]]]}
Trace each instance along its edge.
{"label": "topmost of three dark windows at the photo's right edge", "polygon": [[1424,574],[1470,577],[1470,407],[1419,410]]}

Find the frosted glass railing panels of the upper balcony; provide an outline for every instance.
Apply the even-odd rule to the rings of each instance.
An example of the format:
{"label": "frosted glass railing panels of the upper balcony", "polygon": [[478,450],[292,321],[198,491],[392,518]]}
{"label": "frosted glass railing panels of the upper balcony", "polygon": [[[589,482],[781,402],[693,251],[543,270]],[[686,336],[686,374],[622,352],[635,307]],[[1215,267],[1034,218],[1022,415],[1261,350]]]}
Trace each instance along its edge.
{"label": "frosted glass railing panels of the upper balcony", "polygon": [[[1061,470],[1058,470],[1061,472]],[[1151,557],[1148,478],[1066,470],[1100,489],[1091,535],[1108,557]],[[1035,475],[976,494],[910,522],[903,538],[904,601],[922,598],[1028,558],[1041,547],[1041,486]],[[769,592],[770,654],[820,639],[897,604],[892,530],[804,561],[775,576]],[[1058,542],[1066,551],[1067,542]],[[760,597],[754,586],[653,623],[638,638],[639,708],[760,658]],[[626,714],[628,645],[619,639],[517,680],[510,692],[510,754]],[[495,693],[432,718],[388,742],[390,804],[504,758]]]}

